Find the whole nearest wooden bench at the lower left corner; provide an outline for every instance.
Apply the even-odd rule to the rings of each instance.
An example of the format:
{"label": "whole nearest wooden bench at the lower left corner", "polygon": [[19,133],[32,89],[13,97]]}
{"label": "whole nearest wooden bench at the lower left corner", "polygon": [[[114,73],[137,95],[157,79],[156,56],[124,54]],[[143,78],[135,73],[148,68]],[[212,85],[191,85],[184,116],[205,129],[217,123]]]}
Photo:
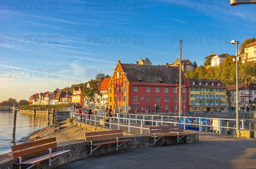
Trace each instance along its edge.
{"label": "whole nearest wooden bench at the lower left corner", "polygon": [[[12,152],[18,151],[12,154],[12,158],[19,158],[19,163],[16,163],[14,165],[19,166],[19,168],[21,168],[22,165],[28,165],[29,167],[27,169],[30,169],[33,166],[38,165],[39,163],[45,160],[49,160],[48,166],[51,166],[52,161],[60,158],[62,155],[66,153],[71,152],[71,150],[61,150],[57,152],[52,152],[52,148],[54,147],[57,147],[56,137],[12,146]],[[49,154],[41,155],[36,158],[22,161],[23,156],[30,155],[36,152],[41,152],[44,150],[49,150]]]}

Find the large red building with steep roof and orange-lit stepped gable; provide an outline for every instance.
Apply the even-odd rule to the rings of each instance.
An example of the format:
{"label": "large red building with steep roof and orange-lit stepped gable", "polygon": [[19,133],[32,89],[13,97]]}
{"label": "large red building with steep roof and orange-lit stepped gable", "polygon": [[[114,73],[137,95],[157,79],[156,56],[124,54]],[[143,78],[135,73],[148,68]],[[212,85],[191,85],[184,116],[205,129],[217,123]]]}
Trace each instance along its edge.
{"label": "large red building with steep roof and orange-lit stepped gable", "polygon": [[[175,66],[151,66],[117,62],[108,86],[109,106],[121,109],[131,106],[131,112],[178,112],[179,69]],[[127,79],[126,79],[127,76]],[[184,77],[184,75],[183,75]],[[127,90],[126,90],[127,84]],[[189,111],[189,88],[182,78],[182,110]]]}

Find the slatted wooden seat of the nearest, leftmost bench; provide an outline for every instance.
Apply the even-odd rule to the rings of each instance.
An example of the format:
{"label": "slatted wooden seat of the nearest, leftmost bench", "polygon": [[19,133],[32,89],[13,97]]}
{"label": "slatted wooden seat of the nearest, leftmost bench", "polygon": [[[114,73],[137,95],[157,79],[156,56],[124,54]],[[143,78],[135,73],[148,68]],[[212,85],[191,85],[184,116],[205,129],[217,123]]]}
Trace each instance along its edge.
{"label": "slatted wooden seat of the nearest, leftmost bench", "polygon": [[41,163],[42,161],[45,160],[49,160],[50,158],[55,158],[58,157],[60,155],[64,155],[66,153],[71,152],[71,150],[61,150],[58,152],[52,152],[50,154],[46,154],[46,155],[42,155],[40,157],[36,157],[36,158],[32,158],[26,161],[22,161],[21,163],[16,163],[14,165],[33,165],[33,164],[37,164],[37,163]]}

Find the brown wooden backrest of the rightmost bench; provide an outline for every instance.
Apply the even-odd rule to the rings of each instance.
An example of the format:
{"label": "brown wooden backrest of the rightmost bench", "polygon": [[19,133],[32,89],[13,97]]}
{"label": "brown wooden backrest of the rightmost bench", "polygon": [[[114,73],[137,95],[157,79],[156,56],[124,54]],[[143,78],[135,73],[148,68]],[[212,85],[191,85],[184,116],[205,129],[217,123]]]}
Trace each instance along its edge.
{"label": "brown wooden backrest of the rightmost bench", "polygon": [[183,132],[183,126],[149,127],[149,133]]}

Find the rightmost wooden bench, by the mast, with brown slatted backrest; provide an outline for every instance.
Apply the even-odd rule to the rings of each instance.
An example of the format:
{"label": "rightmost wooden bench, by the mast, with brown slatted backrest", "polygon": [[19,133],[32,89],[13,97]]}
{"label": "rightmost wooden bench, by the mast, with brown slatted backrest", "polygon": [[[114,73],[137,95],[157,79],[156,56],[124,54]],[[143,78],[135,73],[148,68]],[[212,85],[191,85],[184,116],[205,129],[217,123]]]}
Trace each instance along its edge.
{"label": "rightmost wooden bench, by the mast, with brown slatted backrest", "polygon": [[177,142],[179,142],[185,135],[189,135],[185,133],[180,134],[179,132],[183,132],[183,126],[149,127],[149,133],[154,133],[154,135],[151,135],[151,137],[154,137],[154,144],[162,137],[177,136]]}

